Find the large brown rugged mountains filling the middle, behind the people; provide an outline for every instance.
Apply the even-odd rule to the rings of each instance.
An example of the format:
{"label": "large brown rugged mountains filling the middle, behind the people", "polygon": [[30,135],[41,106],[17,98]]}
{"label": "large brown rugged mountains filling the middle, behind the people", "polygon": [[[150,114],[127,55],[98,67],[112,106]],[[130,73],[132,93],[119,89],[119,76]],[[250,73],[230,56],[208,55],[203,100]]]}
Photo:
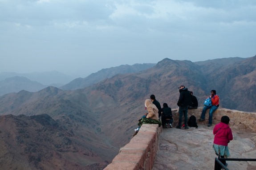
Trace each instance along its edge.
{"label": "large brown rugged mountains filling the middle, behind the people", "polygon": [[177,108],[180,84],[193,91],[199,106],[215,89],[220,107],[256,112],[255,77],[256,56],[203,62],[165,58],[85,88],[74,83],[69,90],[49,86],[5,94],[0,97],[0,165],[17,167],[23,158],[24,169],[103,169],[132,138],[150,94]]}

